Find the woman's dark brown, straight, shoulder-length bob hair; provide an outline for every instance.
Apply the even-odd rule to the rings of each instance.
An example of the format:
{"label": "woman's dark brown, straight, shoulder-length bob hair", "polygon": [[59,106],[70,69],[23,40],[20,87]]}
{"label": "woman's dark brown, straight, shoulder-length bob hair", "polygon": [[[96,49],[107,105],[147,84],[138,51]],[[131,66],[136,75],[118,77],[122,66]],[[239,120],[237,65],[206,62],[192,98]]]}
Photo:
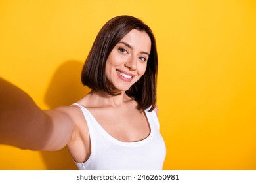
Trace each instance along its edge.
{"label": "woman's dark brown, straight, shoulder-length bob hair", "polygon": [[137,101],[137,108],[149,111],[156,107],[156,79],[158,72],[158,53],[156,40],[152,30],[138,18],[133,16],[116,16],[100,29],[95,42],[83,66],[82,83],[92,90],[119,95],[112,92],[105,74],[106,60],[114,46],[132,29],[146,32],[151,39],[151,51],[144,75],[125,93]]}

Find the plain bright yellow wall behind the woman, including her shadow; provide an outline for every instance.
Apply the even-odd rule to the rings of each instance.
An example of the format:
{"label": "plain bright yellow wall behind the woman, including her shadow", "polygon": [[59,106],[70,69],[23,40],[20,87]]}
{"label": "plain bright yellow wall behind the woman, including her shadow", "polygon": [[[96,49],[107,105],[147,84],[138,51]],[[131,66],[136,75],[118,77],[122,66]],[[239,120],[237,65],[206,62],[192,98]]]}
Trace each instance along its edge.
{"label": "plain bright yellow wall behind the woman, including her shadow", "polygon": [[[152,27],[164,169],[256,169],[256,1],[0,0],[0,76],[41,108],[89,90],[83,61],[110,18]],[[1,90],[1,89],[0,89]],[[76,169],[68,150],[0,145],[0,169]]]}

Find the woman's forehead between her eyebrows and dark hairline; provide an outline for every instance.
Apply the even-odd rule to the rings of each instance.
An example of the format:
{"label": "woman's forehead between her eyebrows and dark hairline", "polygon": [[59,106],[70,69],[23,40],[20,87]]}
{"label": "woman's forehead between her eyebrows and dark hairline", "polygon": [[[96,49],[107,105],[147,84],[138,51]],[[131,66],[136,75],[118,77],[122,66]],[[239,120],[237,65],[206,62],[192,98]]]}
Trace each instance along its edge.
{"label": "woman's forehead between her eyebrows and dark hairline", "polygon": [[120,41],[129,44],[138,51],[150,52],[151,49],[151,39],[145,31],[132,29]]}

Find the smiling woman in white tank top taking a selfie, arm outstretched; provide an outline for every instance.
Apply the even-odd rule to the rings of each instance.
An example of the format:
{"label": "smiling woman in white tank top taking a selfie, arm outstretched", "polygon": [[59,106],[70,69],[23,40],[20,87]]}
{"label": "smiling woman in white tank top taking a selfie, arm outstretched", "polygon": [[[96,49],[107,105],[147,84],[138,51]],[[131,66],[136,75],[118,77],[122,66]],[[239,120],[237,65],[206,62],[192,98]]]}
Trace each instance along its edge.
{"label": "smiling woman in white tank top taking a selfie, arm outstretched", "polygon": [[0,142],[31,150],[68,146],[79,169],[162,169],[157,68],[151,29],[132,16],[112,18],[83,67],[82,82],[92,90],[77,103],[41,110],[1,80]]}

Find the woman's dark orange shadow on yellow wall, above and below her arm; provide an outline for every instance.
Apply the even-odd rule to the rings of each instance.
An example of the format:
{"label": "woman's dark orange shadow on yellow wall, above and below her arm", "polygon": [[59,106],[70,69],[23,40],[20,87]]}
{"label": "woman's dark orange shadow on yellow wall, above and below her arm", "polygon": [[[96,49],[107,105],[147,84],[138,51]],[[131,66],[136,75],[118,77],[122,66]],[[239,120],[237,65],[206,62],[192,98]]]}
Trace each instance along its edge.
{"label": "woman's dark orange shadow on yellow wall, above and below her arm", "polygon": [[[66,61],[53,75],[47,88],[45,103],[49,108],[71,105],[89,93],[90,89],[81,83],[83,62]],[[56,152],[41,152],[47,169],[77,169],[68,148]]]}

